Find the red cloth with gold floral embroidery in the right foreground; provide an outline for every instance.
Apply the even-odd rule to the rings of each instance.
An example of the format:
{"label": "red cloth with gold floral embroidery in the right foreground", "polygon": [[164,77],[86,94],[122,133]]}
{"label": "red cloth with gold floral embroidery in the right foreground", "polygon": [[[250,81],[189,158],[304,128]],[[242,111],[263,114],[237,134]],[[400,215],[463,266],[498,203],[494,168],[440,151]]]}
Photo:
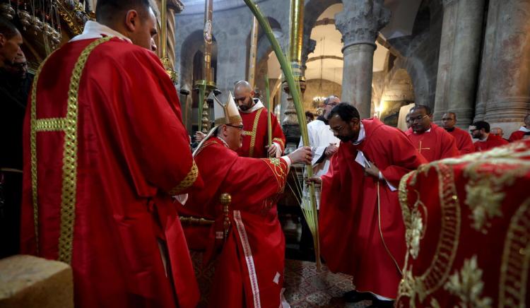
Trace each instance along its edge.
{"label": "red cloth with gold floral embroidery in the right foreground", "polygon": [[530,303],[530,140],[422,165],[401,179],[396,307]]}

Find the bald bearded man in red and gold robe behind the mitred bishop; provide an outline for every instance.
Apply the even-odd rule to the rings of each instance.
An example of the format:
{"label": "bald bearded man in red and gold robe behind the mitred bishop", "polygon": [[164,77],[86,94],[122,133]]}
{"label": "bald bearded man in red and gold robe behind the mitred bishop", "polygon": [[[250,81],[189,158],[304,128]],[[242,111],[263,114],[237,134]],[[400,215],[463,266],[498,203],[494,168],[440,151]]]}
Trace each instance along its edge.
{"label": "bald bearded man in red and gold robe behind the mitred bishop", "polygon": [[[254,98],[254,90],[247,81],[234,86],[235,102],[243,119],[243,146],[237,150],[245,158],[279,158],[285,150],[285,136],[273,112]],[[269,146],[267,117],[271,112],[272,146]]]}

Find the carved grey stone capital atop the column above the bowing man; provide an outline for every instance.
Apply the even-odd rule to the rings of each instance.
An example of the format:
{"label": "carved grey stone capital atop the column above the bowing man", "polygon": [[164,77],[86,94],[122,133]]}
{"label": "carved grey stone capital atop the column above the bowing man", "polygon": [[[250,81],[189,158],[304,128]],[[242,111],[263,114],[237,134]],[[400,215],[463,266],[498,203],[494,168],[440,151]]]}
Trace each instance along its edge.
{"label": "carved grey stone capital atop the column above the bowing man", "polygon": [[344,1],[343,11],[335,14],[335,27],[341,32],[344,49],[351,45],[374,45],[377,32],[390,21],[390,10],[383,0]]}

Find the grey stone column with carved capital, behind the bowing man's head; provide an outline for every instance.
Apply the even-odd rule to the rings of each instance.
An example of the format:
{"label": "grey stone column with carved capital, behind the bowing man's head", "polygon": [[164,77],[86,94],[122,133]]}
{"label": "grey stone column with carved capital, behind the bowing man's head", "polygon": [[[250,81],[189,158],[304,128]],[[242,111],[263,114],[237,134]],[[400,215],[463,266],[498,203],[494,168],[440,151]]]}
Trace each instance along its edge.
{"label": "grey stone column with carved capital, behind the bowing man's head", "polygon": [[350,0],[343,5],[343,11],[335,15],[344,42],[341,100],[357,107],[364,119],[370,117],[372,105],[375,39],[389,22],[390,11],[383,0]]}

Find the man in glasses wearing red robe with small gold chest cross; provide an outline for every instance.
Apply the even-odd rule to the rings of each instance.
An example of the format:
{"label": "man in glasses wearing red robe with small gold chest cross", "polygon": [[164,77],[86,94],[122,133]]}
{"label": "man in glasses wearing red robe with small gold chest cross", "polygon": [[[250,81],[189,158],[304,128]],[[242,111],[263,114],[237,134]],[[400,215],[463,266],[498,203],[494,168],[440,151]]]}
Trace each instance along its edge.
{"label": "man in glasses wearing red robe with small gold chest cross", "polygon": [[432,123],[430,107],[416,105],[410,111],[411,128],[405,132],[418,152],[429,162],[459,155],[454,137]]}

